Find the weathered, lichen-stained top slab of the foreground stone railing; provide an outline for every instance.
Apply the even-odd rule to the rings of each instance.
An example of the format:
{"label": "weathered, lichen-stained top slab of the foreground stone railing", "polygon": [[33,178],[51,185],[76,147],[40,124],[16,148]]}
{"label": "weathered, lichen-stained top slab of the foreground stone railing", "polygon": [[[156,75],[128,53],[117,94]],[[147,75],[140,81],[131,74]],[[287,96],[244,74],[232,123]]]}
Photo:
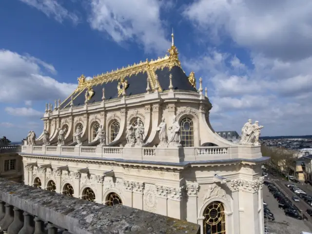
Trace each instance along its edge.
{"label": "weathered, lichen-stained top slab of the foreground stone railing", "polygon": [[60,195],[0,178],[0,200],[73,234],[199,234],[199,225],[122,205]]}

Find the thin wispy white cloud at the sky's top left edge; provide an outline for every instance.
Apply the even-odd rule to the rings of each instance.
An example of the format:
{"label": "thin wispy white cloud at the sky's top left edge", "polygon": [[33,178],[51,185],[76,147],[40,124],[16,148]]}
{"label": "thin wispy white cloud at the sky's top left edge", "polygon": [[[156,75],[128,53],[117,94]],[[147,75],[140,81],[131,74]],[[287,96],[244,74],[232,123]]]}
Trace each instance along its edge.
{"label": "thin wispy white cloud at the sky's top left edge", "polygon": [[60,23],[68,19],[73,23],[78,23],[78,16],[69,12],[66,8],[61,6],[57,0],[20,0],[30,6],[42,11],[47,17],[53,17]]}

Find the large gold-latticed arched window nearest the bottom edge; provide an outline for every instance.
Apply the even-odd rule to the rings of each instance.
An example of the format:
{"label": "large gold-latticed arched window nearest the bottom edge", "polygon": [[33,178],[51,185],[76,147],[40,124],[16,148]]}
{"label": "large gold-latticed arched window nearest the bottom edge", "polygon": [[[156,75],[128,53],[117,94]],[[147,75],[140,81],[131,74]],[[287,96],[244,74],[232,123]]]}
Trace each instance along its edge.
{"label": "large gold-latticed arched window nearest the bottom edge", "polygon": [[204,233],[225,234],[225,214],[221,202],[214,201],[204,210]]}

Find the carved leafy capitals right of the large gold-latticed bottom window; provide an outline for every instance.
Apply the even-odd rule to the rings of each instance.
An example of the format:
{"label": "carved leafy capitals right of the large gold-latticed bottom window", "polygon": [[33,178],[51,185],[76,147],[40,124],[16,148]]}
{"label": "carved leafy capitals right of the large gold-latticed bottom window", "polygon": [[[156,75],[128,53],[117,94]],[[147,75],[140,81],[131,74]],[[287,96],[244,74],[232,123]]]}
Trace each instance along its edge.
{"label": "carved leafy capitals right of the large gold-latticed bottom window", "polygon": [[232,191],[243,190],[246,192],[255,193],[263,187],[264,177],[259,177],[255,180],[245,180],[245,179],[234,179],[231,181],[230,185]]}

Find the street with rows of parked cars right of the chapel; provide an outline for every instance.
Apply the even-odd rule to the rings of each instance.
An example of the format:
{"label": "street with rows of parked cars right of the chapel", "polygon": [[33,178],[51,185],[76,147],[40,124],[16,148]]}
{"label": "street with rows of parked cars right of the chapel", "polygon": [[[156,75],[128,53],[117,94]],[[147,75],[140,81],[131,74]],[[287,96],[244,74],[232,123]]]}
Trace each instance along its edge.
{"label": "street with rows of parked cars right of the chapel", "polygon": [[[266,175],[267,174],[267,175]],[[312,186],[264,173],[264,220],[267,234],[312,232]],[[307,188],[311,187],[311,191]],[[271,222],[270,222],[271,221]]]}

